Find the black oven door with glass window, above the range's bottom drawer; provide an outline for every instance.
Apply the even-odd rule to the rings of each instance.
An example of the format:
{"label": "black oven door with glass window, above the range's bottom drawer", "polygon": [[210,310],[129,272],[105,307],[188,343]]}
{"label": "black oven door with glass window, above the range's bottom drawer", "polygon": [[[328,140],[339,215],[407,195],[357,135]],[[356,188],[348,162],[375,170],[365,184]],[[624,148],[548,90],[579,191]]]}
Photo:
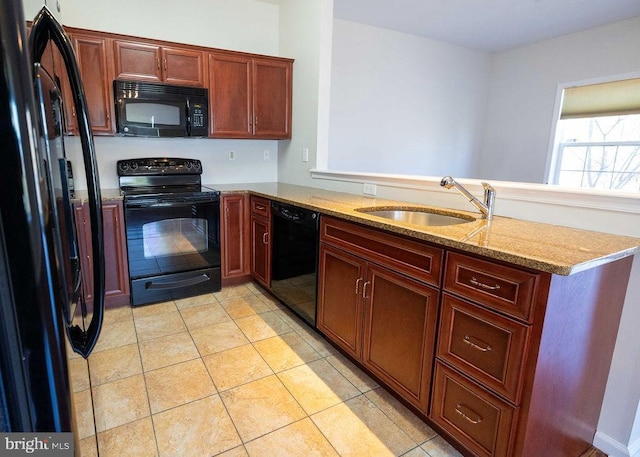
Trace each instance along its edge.
{"label": "black oven door with glass window, above the range's bottom drawer", "polygon": [[219,202],[125,208],[132,279],[220,266]]}

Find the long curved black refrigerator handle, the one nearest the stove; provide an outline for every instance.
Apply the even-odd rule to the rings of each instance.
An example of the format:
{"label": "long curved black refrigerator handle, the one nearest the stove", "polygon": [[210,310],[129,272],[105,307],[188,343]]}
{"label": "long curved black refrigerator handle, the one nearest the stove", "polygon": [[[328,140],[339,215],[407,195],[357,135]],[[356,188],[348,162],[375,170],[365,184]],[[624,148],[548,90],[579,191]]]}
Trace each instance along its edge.
{"label": "long curved black refrigerator handle, the one nearest the stove", "polygon": [[88,204],[92,240],[91,252],[93,255],[93,313],[89,327],[86,330],[80,329],[78,326],[67,326],[67,333],[71,340],[73,350],[86,358],[98,340],[104,315],[105,283],[102,197],[93,136],[89,124],[87,99],[82,86],[75,53],[71,41],[62,26],[45,6],[34,19],[29,35],[29,50],[34,62],[40,61],[49,41],[52,41],[60,51],[71,84],[89,195]]}

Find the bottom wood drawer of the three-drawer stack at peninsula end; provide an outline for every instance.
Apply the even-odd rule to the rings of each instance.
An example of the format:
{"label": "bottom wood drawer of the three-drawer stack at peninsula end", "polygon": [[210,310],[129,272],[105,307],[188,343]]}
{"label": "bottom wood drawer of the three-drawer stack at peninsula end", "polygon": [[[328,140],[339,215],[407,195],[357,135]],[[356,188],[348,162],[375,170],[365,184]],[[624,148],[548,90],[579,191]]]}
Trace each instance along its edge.
{"label": "bottom wood drawer of the three-drawer stack at peninsula end", "polygon": [[511,455],[517,408],[436,361],[431,419],[474,455]]}

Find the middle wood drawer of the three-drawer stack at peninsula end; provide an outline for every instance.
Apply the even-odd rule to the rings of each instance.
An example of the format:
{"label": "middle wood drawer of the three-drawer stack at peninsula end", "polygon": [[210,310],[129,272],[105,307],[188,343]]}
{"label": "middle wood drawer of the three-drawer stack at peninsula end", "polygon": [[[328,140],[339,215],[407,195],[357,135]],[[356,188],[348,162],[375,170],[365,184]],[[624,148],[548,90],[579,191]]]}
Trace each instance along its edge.
{"label": "middle wood drawer of the three-drawer stack at peninsula end", "polygon": [[517,404],[529,327],[443,294],[438,357]]}

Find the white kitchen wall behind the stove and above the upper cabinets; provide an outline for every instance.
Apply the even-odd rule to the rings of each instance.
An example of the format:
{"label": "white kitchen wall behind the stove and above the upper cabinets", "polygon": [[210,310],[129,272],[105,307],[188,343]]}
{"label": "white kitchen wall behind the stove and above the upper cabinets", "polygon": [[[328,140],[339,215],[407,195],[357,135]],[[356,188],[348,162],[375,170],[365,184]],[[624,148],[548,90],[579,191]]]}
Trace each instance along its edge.
{"label": "white kitchen wall behind the stove and above the upper cabinets", "polygon": [[[62,0],[62,19],[65,25],[91,30],[280,55],[279,8],[254,0]],[[278,142],[273,140],[95,137],[94,141],[104,188],[118,187],[116,161],[132,157],[200,159],[203,182],[210,184],[275,181],[278,177]],[[73,138],[68,143],[76,187],[85,189],[78,143]],[[236,152],[233,161],[228,160],[231,150]],[[269,160],[263,159],[264,150],[269,150]]]}

